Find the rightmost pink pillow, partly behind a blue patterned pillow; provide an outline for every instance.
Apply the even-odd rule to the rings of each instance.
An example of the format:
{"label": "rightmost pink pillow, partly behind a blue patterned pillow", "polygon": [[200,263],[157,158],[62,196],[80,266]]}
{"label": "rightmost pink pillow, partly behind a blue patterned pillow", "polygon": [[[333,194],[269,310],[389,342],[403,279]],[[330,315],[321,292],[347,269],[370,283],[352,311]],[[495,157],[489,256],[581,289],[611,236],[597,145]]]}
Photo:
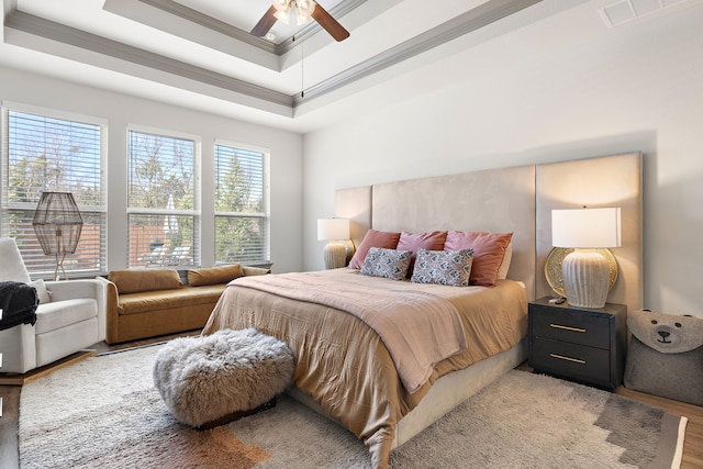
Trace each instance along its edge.
{"label": "rightmost pink pillow, partly behind a blue patterned pillow", "polygon": [[505,249],[513,238],[512,233],[456,232],[447,234],[445,250],[473,249],[470,284],[495,287],[498,269]]}

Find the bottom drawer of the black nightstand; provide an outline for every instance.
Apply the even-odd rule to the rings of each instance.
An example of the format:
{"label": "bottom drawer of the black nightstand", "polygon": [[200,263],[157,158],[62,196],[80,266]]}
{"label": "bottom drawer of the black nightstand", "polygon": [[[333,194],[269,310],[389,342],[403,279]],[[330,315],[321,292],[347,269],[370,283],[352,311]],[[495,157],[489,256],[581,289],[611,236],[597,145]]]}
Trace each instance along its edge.
{"label": "bottom drawer of the black nightstand", "polygon": [[611,381],[609,350],[537,338],[532,351],[532,366],[537,370],[601,384]]}

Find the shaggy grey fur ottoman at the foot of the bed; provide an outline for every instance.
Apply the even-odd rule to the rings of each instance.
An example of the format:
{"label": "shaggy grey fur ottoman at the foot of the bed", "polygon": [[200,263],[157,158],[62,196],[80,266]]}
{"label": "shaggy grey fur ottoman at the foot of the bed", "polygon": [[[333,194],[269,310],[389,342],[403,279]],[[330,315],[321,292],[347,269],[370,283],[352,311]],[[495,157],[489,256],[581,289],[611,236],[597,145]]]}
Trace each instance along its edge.
{"label": "shaggy grey fur ottoman at the foot of the bed", "polygon": [[181,337],[161,348],[154,384],[180,422],[212,428],[276,404],[294,368],[288,345],[254,328]]}

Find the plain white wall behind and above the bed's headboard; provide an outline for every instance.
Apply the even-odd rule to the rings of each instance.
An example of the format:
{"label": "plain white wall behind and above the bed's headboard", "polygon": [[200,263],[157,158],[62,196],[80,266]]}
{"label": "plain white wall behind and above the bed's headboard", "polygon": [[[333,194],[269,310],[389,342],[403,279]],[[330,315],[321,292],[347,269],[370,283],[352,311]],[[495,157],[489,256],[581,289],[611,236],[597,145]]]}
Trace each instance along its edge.
{"label": "plain white wall behind and above the bed's headboard", "polygon": [[335,189],[641,150],[645,306],[703,317],[702,24],[696,0],[614,29],[587,2],[367,90],[415,92],[305,136],[304,268]]}

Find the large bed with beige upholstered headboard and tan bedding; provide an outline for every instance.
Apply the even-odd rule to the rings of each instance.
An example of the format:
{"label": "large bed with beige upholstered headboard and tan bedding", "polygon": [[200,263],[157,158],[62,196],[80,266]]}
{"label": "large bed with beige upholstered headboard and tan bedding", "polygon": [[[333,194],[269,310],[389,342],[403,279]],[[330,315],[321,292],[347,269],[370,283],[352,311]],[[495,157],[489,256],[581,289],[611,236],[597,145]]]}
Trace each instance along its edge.
{"label": "large bed with beige upholstered headboard and tan bedding", "polygon": [[[583,163],[571,161],[569,167],[558,169],[578,170],[580,164]],[[617,200],[624,209],[625,226],[640,223],[635,220],[641,211],[639,155],[598,158],[588,164],[601,169],[618,168],[621,187],[629,175],[636,175],[631,178],[633,183],[628,185],[627,196]],[[288,343],[297,356],[290,394],[361,438],[369,448],[372,466],[384,468],[392,448],[525,359],[527,301],[536,298],[535,294],[548,294],[543,284],[544,275],[539,276],[538,270],[544,269],[540,259],[548,254],[544,250],[549,242],[545,244],[540,239],[544,235],[536,226],[540,216],[555,205],[554,199],[544,199],[553,180],[544,179],[542,186],[539,182],[539,175],[549,174],[550,166],[425,178],[345,189],[335,194],[336,215],[353,220],[357,245],[371,227],[426,233],[470,226],[488,233],[512,233],[509,273],[493,287],[417,284],[361,275],[347,268],[242,279],[225,289],[203,334],[252,326]],[[623,175],[627,178],[623,179]],[[589,178],[581,183],[593,186]],[[637,188],[634,194],[633,187]],[[570,206],[561,204],[565,205]],[[638,252],[637,246],[632,248]],[[640,259],[631,252],[625,255],[627,263],[621,266],[618,281],[628,288],[615,288],[610,301],[626,302],[628,295],[637,294],[631,279],[637,279]],[[310,287],[306,292],[304,284]],[[322,294],[347,289],[347,298],[333,294],[330,299]],[[387,333],[379,333],[377,325],[364,321],[368,313],[362,308],[349,305],[355,303],[350,298],[359,299],[359,303],[373,304],[378,298],[383,299],[382,303],[393,303],[395,300],[386,295],[395,294],[427,295],[449,303],[460,319],[466,347],[457,339],[458,351],[449,348],[429,358],[421,356],[424,375],[409,378],[405,366],[399,368],[398,362],[398,356],[405,355],[408,348],[404,353],[393,353],[383,335]],[[415,301],[416,297],[411,303]],[[406,347],[416,348],[412,343]],[[427,365],[429,371],[425,369]]]}

